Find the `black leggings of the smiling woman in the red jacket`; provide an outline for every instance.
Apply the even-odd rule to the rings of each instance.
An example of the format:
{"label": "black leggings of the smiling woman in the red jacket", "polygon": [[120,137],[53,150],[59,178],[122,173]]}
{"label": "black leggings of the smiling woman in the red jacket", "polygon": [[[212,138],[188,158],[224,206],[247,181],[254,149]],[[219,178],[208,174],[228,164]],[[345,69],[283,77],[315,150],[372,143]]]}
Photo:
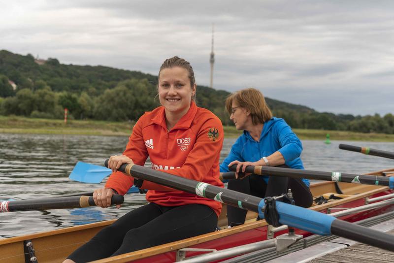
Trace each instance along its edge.
{"label": "black leggings of the smiling woman in the red jacket", "polygon": [[99,231],[67,259],[90,262],[216,230],[218,217],[208,206],[149,203]]}

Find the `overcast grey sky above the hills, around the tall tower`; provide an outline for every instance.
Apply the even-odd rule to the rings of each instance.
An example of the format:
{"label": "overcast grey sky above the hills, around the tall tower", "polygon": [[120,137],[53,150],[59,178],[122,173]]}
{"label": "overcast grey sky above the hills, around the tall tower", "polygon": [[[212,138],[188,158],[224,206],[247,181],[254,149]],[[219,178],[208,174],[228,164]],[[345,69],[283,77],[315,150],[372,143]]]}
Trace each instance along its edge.
{"label": "overcast grey sky above the hills, around the tall tower", "polygon": [[394,113],[394,1],[1,1],[0,49],[158,74],[190,61],[209,86],[320,112]]}

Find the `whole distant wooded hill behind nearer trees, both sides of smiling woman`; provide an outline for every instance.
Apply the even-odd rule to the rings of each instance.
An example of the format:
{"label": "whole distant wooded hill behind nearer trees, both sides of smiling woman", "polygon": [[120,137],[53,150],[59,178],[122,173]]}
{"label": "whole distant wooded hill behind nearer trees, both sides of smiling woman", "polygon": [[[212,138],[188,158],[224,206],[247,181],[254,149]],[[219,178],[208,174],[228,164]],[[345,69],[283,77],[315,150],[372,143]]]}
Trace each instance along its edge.
{"label": "whole distant wooded hill behind nearer trees, both sides of smiling woman", "polygon": [[[13,81],[18,89],[34,88],[34,83],[43,80],[52,91],[81,93],[89,89],[95,90],[95,95],[102,94],[106,89],[114,88],[119,82],[127,79],[147,79],[156,84],[157,76],[140,71],[117,69],[107,66],[77,66],[60,64],[57,59],[34,59],[32,55],[18,55],[6,50],[0,51],[0,74]],[[217,109],[216,114],[224,115],[224,101],[230,93],[215,90],[206,86],[197,87],[197,103],[201,107]],[[271,109],[281,108],[299,112],[313,112],[313,109],[302,105],[282,102],[266,98]]]}

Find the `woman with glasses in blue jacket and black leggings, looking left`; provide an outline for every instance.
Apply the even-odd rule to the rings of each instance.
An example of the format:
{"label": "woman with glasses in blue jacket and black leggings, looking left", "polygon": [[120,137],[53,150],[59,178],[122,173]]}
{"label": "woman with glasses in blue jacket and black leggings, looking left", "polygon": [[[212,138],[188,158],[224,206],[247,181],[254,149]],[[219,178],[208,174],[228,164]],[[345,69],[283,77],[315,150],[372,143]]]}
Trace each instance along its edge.
{"label": "woman with glasses in blue jacket and black leggings, looking left", "polygon": [[[237,91],[226,100],[230,120],[243,134],[232,145],[230,154],[220,165],[221,172],[237,164],[238,172],[248,165],[278,166],[304,169],[300,155],[302,144],[289,125],[272,113],[265,103],[263,94],[253,88]],[[229,180],[228,189],[258,197],[278,196],[292,189],[296,205],[309,207],[312,195],[309,181],[276,176],[249,175],[243,179]],[[228,206],[229,226],[245,222],[246,210]]]}

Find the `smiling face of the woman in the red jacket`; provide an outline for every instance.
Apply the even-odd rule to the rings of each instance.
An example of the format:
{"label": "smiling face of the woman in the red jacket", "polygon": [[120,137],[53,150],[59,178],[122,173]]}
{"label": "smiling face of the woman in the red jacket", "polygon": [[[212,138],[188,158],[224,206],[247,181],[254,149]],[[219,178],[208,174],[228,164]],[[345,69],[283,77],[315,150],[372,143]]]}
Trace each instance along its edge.
{"label": "smiling face of the woman in the red jacket", "polygon": [[159,100],[166,114],[185,115],[195,92],[196,84],[191,87],[189,74],[185,68],[174,66],[160,71]]}

